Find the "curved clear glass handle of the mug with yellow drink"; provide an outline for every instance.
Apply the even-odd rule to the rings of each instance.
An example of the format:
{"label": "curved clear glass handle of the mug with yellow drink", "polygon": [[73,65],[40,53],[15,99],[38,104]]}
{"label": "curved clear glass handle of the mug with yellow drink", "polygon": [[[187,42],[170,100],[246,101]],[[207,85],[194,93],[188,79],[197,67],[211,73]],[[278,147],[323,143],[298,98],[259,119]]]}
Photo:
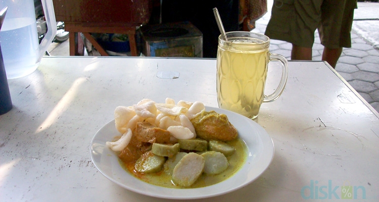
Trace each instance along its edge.
{"label": "curved clear glass handle of the mug with yellow drink", "polygon": [[271,54],[269,53],[269,61],[277,61],[281,64],[282,73],[281,73],[281,79],[279,86],[276,88],[276,90],[270,94],[270,95],[264,95],[263,103],[269,103],[274,101],[276,98],[280,96],[280,94],[283,92],[284,87],[286,86],[287,79],[288,79],[288,62],[287,59],[281,55],[278,54]]}

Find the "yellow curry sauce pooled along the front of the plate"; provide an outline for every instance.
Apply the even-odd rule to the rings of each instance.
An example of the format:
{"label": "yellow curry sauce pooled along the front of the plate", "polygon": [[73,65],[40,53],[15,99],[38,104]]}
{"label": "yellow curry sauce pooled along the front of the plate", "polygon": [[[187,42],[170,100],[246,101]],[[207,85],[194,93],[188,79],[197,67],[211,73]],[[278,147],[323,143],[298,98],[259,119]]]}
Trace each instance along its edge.
{"label": "yellow curry sauce pooled along the front of the plate", "polygon": [[134,177],[145,181],[150,184],[154,184],[157,186],[163,186],[168,188],[199,188],[199,187],[206,187],[210,186],[216,183],[219,183],[221,181],[224,181],[234,175],[246,162],[247,158],[247,145],[246,143],[240,138],[236,138],[232,141],[227,142],[228,144],[232,145],[235,148],[235,151],[232,155],[226,157],[229,166],[228,168],[217,175],[207,175],[203,173],[201,177],[192,185],[189,187],[180,187],[175,186],[171,182],[171,175],[166,174],[163,169],[162,171],[158,173],[151,173],[151,174],[145,174],[145,173],[138,173],[134,170],[134,164],[135,162],[130,163],[124,163],[119,160],[120,165],[126,170],[128,173],[133,175]]}

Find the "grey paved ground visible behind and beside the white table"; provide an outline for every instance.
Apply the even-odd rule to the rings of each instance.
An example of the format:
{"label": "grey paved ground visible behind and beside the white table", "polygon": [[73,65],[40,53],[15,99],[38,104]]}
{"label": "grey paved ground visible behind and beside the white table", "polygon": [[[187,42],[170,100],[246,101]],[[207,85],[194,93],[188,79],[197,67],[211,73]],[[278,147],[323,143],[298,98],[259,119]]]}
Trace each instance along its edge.
{"label": "grey paved ground visible behind and beside the white table", "polygon": [[[253,32],[264,33],[273,0],[268,0],[268,13],[256,23]],[[313,60],[321,60],[323,46],[315,33]],[[291,59],[292,45],[272,40],[270,51]],[[52,56],[69,56],[68,40],[53,43],[49,48]],[[379,3],[358,2],[352,27],[352,47],[344,48],[336,66],[337,72],[379,112]]]}

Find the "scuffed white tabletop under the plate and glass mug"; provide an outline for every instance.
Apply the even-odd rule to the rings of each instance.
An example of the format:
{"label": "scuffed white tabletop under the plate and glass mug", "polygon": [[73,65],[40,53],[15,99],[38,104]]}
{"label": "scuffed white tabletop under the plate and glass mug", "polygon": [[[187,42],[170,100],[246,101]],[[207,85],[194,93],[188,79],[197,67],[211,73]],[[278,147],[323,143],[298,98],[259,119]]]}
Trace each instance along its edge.
{"label": "scuffed white tabletop under the plate and glass mug", "polygon": [[[14,108],[0,116],[0,201],[167,201],[104,177],[90,160],[91,138],[117,106],[143,98],[217,107],[215,66],[206,59],[43,58],[31,75],[9,80]],[[269,168],[242,189],[194,201],[301,201],[316,186],[325,192],[317,197],[333,200],[344,183],[358,199],[364,190],[367,201],[379,200],[378,113],[324,62],[290,61],[289,69],[285,91],[255,120],[273,139]],[[273,67],[269,79],[278,74]]]}

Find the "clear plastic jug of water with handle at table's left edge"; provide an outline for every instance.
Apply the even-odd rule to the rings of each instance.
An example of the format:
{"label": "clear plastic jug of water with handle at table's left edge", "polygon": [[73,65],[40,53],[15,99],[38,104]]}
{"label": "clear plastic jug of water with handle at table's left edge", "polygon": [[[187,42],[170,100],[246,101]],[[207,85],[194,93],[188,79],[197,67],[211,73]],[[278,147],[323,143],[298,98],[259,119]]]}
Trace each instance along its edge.
{"label": "clear plastic jug of water with handle at table's left edge", "polygon": [[8,6],[0,31],[4,65],[8,79],[34,72],[57,33],[52,0],[41,0],[48,32],[38,44],[37,24],[32,0],[0,0],[0,8]]}

